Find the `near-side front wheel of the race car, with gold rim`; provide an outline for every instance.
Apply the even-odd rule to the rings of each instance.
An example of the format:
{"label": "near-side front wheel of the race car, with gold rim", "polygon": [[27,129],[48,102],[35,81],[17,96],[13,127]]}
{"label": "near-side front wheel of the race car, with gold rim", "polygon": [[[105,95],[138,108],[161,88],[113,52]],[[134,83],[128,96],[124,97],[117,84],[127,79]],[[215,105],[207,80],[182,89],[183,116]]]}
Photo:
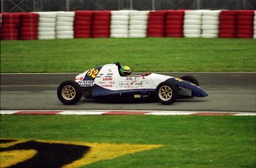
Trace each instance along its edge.
{"label": "near-side front wheel of the race car, with gold rim", "polygon": [[157,86],[157,98],[161,104],[173,104],[178,96],[178,87],[171,81],[164,81]]}

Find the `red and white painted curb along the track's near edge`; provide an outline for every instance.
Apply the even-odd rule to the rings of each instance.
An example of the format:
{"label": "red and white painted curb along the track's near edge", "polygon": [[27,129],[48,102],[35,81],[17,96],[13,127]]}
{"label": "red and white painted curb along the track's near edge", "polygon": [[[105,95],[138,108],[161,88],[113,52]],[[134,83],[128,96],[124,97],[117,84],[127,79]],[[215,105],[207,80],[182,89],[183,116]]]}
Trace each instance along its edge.
{"label": "red and white painted curb along the track's near edge", "polygon": [[1,115],[254,115],[256,112],[193,112],[159,110],[0,110]]}

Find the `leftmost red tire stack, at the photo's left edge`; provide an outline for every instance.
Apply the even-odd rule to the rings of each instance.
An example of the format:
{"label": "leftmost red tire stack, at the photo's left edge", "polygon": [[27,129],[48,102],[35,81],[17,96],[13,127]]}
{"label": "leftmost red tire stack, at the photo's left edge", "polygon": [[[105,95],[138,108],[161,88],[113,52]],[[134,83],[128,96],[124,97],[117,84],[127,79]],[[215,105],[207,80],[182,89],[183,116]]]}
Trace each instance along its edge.
{"label": "leftmost red tire stack, at the photo's left edge", "polygon": [[20,13],[1,14],[1,40],[19,39]]}

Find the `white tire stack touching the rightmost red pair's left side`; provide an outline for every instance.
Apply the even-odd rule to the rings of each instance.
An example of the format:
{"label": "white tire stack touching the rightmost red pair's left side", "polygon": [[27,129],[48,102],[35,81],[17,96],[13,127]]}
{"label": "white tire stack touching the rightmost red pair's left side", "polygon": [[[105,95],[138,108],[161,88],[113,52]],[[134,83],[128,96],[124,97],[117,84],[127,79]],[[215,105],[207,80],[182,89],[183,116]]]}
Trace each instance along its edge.
{"label": "white tire stack touching the rightmost red pair's left side", "polygon": [[217,38],[220,25],[220,10],[209,10],[203,12],[202,16],[202,37]]}

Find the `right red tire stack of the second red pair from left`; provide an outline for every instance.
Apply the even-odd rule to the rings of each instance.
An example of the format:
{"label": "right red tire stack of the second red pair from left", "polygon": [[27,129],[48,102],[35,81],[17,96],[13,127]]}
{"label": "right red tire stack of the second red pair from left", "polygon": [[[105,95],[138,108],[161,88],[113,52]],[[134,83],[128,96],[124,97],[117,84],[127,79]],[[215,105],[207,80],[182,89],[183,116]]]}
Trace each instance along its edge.
{"label": "right red tire stack of the second red pair from left", "polygon": [[93,38],[108,38],[111,35],[111,11],[93,13]]}

